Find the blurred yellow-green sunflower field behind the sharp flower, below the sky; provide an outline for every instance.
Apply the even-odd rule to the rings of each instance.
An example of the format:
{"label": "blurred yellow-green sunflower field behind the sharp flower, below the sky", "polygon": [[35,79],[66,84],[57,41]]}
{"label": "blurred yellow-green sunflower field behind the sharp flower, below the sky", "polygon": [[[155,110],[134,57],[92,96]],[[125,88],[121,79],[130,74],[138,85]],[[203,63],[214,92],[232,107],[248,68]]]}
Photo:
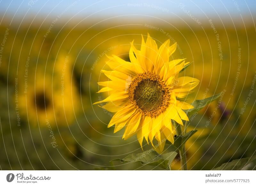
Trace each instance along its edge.
{"label": "blurred yellow-green sunflower field behind the sharp flower, below the sky", "polygon": [[[113,166],[111,159],[140,153],[140,145],[135,137],[122,140],[123,131],[113,134],[113,128],[107,128],[113,114],[92,105],[106,97],[96,93],[97,82],[107,80],[100,73],[108,70],[106,54],[128,61],[130,42],[134,40],[139,48],[141,37],[148,33],[158,46],[167,39],[178,43],[173,59],[193,62],[183,75],[200,83],[188,102],[223,91],[221,99],[198,112],[189,124],[189,129],[199,131],[186,146],[188,168],[208,170],[254,153],[256,33],[252,22],[236,27],[214,23],[215,33],[209,21],[202,27],[111,24],[57,24],[50,31],[47,24],[1,25],[0,35],[8,33],[0,63],[1,169],[127,170],[139,166],[148,170],[140,164],[117,162],[108,167]],[[179,169],[178,163],[173,169]]]}

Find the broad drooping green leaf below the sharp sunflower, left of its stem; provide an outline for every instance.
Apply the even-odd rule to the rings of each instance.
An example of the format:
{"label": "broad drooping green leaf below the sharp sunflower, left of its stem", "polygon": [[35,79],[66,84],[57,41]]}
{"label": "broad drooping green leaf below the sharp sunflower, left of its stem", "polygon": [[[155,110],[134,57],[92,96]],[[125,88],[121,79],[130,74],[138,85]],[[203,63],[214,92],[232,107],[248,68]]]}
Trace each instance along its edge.
{"label": "broad drooping green leaf below the sharp sunflower, left of its stem", "polygon": [[166,154],[158,154],[153,149],[138,153],[129,154],[124,159],[113,159],[111,161],[120,161],[121,163],[135,163],[140,162],[142,165],[158,166],[163,169],[169,169],[172,160],[176,157],[177,152],[168,152]]}

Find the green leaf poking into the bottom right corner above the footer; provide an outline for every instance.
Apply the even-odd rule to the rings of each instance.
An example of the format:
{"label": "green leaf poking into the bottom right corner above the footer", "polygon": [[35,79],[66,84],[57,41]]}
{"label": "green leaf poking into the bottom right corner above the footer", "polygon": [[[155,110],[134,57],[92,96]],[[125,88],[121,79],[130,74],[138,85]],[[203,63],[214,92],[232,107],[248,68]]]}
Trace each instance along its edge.
{"label": "green leaf poking into the bottom right corner above the footer", "polygon": [[231,162],[224,163],[220,167],[214,168],[212,170],[242,170],[246,165],[255,159],[256,155],[248,158],[235,159]]}

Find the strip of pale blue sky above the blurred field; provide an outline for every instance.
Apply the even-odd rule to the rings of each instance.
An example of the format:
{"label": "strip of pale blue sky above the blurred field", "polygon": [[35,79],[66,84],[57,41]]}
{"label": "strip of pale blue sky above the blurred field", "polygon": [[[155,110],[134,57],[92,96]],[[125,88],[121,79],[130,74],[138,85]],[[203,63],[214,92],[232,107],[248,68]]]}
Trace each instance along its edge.
{"label": "strip of pale blue sky above the blurred field", "polygon": [[[74,3],[75,2],[75,3]],[[66,9],[66,10],[65,10]],[[143,14],[158,17],[184,17],[190,13],[194,17],[206,16],[254,16],[255,0],[1,0],[0,14],[5,16],[36,15],[56,17],[64,11],[66,17],[77,14],[92,18]],[[224,16],[224,17],[223,17]]]}

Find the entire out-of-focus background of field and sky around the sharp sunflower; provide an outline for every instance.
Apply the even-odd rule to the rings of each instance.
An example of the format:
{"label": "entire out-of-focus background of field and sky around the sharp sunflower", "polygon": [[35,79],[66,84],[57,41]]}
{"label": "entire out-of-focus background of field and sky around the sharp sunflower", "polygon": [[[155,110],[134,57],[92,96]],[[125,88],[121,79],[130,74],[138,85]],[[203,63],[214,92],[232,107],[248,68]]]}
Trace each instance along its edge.
{"label": "entire out-of-focus background of field and sky around the sharp sunflower", "polygon": [[[182,73],[200,80],[188,102],[223,91],[192,116],[188,168],[254,155],[255,15],[252,0],[0,1],[0,169],[158,170],[109,162],[142,150],[92,105],[107,96],[96,93],[105,54],[129,61],[130,42],[139,48],[148,33],[193,62]],[[178,156],[172,165],[180,168]]]}

